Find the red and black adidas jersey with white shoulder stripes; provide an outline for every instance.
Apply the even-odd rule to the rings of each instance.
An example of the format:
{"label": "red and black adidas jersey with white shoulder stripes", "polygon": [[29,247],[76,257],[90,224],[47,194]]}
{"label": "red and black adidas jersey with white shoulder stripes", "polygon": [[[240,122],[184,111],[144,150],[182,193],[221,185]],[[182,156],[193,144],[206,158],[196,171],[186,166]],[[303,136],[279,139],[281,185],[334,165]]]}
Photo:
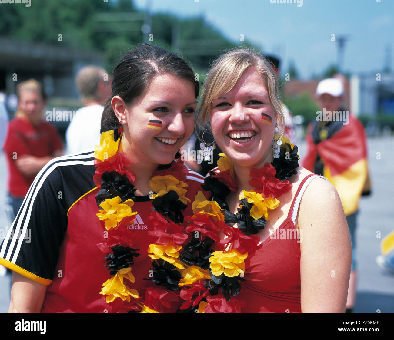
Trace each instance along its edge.
{"label": "red and black adidas jersey with white shoulder stripes", "polygon": [[[0,247],[0,264],[48,285],[41,310],[44,313],[112,312],[113,303],[106,303],[100,294],[102,284],[112,275],[104,266],[106,254],[97,246],[103,242],[106,229],[104,221],[96,216],[99,208],[95,195],[99,189],[93,182],[93,160],[93,152],[85,152],[49,162],[35,178]],[[191,202],[199,190],[204,192],[203,182],[201,175],[189,171],[186,197]],[[149,196],[136,198],[132,210],[138,214],[127,228],[141,256],[134,259],[136,282],[129,286],[143,296],[145,288],[156,286],[143,280],[149,278],[153,268],[147,255],[149,244],[157,239],[148,235],[153,230],[148,221],[152,214]],[[191,203],[183,215],[193,215]],[[14,237],[10,237],[11,230]],[[121,303],[120,298],[115,301]],[[168,312],[178,307],[179,303],[173,303]]]}

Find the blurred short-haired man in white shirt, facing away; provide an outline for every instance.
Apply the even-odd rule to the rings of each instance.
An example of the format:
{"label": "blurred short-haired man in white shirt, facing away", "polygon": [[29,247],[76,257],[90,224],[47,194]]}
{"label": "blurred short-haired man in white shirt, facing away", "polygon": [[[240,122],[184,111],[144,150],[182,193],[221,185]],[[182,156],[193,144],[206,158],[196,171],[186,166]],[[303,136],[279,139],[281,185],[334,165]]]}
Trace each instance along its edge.
{"label": "blurred short-haired man in white shirt, facing away", "polygon": [[111,95],[111,78],[103,68],[86,66],[77,76],[82,105],[66,131],[67,153],[92,149],[100,142],[104,104]]}

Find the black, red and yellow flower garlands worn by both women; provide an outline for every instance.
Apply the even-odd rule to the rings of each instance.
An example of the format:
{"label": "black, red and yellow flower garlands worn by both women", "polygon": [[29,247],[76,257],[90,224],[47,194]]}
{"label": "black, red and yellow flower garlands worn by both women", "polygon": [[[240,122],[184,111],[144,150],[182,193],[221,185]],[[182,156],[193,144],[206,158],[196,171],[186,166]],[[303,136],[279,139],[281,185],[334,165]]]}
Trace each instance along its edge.
{"label": "black, red and yellow flower garlands worn by both women", "polygon": [[[202,185],[211,197],[207,200],[198,192],[192,202],[193,216],[182,214],[190,202],[184,182],[188,169],[179,159],[160,166],[149,181],[154,194],[149,217],[153,230],[148,235],[156,241],[147,253],[153,268],[149,278],[138,278],[156,286],[145,288],[143,297],[130,287],[135,283],[134,258],[141,255],[141,249],[134,248],[132,231],[126,228],[137,214],[132,210],[136,189],[135,175],[125,168],[130,163],[127,155],[117,153],[121,131],[103,132],[100,145],[95,147],[93,180],[99,188],[95,198],[102,208],[97,216],[107,231],[98,246],[106,254],[104,266],[112,275],[100,294],[107,303],[121,299],[122,307],[113,305],[113,311],[118,312],[163,312],[171,302],[182,300],[180,312],[241,312],[245,301],[236,296],[241,290],[239,281],[245,280],[244,260],[259,242],[253,234],[266,225],[268,211],[279,206],[277,197],[292,187],[287,178],[297,173],[297,146],[282,137],[279,158],[251,170],[249,183],[255,190],[242,191],[237,214],[229,212],[226,203],[226,197],[238,188],[232,164],[224,154]],[[233,227],[234,223],[238,227]],[[221,234],[225,238],[220,238]]]}

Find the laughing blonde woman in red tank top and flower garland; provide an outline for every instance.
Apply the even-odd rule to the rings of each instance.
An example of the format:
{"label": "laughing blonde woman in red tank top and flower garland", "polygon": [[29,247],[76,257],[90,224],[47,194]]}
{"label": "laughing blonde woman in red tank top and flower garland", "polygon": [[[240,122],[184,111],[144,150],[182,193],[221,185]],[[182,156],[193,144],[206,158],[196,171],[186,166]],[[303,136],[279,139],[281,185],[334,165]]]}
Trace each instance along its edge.
{"label": "laughing blonde woman in red tank top and flower garland", "polygon": [[298,166],[297,146],[281,137],[269,63],[247,49],[221,55],[201,103],[197,120],[225,154],[205,189],[224,221],[255,242],[242,253],[238,283],[227,281],[228,297],[242,312],[344,312],[351,245],[342,204],[329,181]]}

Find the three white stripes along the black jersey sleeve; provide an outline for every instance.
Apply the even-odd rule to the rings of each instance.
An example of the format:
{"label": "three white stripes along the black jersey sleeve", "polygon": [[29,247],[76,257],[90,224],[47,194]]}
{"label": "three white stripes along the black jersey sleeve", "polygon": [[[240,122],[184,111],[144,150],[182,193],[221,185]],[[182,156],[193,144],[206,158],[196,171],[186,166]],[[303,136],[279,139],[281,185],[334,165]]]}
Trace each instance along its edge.
{"label": "three white stripes along the black jersey sleeve", "polygon": [[[71,156],[69,158],[67,157],[58,157],[50,161],[46,166],[41,169],[39,174],[36,176],[35,180],[33,181],[28,194],[26,195],[22,206],[17,214],[17,218],[15,218],[15,221],[11,225],[11,228],[9,229],[7,233],[7,237],[4,239],[4,242],[2,244],[2,248],[0,249],[0,257],[4,258],[6,261],[10,261],[10,257],[13,254],[12,260],[10,262],[14,263],[17,260],[20,247],[22,245],[22,242],[24,240],[24,237],[26,235],[26,230],[29,224],[30,216],[32,213],[32,205],[33,202],[37,196],[37,193],[41,186],[43,185],[46,177],[58,166],[67,166],[67,165],[74,165],[74,164],[83,164],[83,165],[93,165],[94,161],[94,155],[93,152],[85,153],[85,154],[79,154],[76,156]],[[23,224],[23,227],[22,227]],[[20,233],[20,230],[22,228],[22,232]],[[11,231],[14,230],[14,236],[11,240],[11,243],[8,244],[9,237],[11,235]],[[20,234],[19,234],[20,233]],[[19,240],[18,240],[19,238]],[[18,243],[16,244],[16,241],[18,240]],[[16,244],[16,245],[15,245]],[[4,254],[7,251],[6,257],[4,257]]]}

